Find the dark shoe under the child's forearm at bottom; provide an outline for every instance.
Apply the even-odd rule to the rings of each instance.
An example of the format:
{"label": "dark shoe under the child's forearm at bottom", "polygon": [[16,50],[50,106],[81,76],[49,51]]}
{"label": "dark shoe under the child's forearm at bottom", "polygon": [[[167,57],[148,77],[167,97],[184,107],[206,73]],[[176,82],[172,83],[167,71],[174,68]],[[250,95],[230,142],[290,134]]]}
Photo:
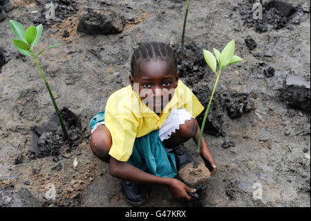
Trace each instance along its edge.
{"label": "dark shoe under the child's forearm at bottom", "polygon": [[148,194],[146,186],[122,180],[121,187],[126,202],[131,206],[142,206],[147,202]]}

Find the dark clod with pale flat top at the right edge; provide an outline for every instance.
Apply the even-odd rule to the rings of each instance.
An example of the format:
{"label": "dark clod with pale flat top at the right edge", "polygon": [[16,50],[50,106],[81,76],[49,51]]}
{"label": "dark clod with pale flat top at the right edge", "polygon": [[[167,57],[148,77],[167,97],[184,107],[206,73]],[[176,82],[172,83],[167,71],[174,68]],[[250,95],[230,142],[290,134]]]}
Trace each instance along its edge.
{"label": "dark clod with pale flat top at the right edge", "polygon": [[287,103],[288,107],[310,114],[310,81],[287,76],[283,81],[283,88],[280,89],[279,98]]}

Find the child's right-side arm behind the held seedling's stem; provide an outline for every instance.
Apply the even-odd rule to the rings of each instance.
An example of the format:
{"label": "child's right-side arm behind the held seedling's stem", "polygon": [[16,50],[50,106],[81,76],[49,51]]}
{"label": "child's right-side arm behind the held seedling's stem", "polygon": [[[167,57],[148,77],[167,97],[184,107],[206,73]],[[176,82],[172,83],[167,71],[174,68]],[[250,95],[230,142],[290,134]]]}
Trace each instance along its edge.
{"label": "child's right-side arm behind the held seedling's stem", "polygon": [[[200,136],[200,126],[198,125],[198,122],[196,121],[196,125],[198,126],[198,130],[196,134],[194,135],[194,141],[198,145],[198,139]],[[201,139],[201,145],[200,145],[200,156],[205,162],[205,166],[209,169],[211,172],[211,175],[214,175],[217,170],[216,162],[214,160],[214,157],[211,155],[211,152],[209,151],[209,148],[207,147],[207,143],[205,142],[203,136]]]}

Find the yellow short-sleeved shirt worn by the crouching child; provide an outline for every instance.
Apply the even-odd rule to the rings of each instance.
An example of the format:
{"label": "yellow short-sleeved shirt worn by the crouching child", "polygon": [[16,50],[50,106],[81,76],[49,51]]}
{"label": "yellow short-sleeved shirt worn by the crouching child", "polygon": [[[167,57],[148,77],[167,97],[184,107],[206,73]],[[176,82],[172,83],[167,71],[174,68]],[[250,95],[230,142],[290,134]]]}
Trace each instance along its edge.
{"label": "yellow short-sleeved shirt worn by the crouching child", "polygon": [[160,129],[172,108],[184,108],[194,117],[204,109],[180,80],[173,98],[159,115],[142,103],[131,85],[115,91],[107,100],[105,109],[105,125],[112,138],[109,154],[118,161],[128,161],[136,137]]}

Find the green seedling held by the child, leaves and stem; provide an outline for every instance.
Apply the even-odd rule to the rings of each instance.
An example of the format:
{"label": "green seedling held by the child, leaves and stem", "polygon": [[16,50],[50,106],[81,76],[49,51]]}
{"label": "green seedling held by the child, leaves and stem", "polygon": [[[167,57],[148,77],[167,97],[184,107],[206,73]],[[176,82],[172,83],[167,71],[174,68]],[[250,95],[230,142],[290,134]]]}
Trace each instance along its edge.
{"label": "green seedling held by the child, leaves and stem", "polygon": [[[207,64],[211,68],[211,71],[213,71],[216,74],[217,78],[216,78],[216,82],[214,85],[213,92],[211,93],[211,98],[209,100],[209,104],[207,105],[207,109],[206,109],[206,112],[205,112],[205,115],[204,115],[204,118],[202,121],[200,136],[198,139],[198,148],[196,150],[196,157],[194,160],[194,168],[198,168],[198,157],[200,155],[200,145],[201,145],[201,140],[202,140],[202,133],[203,133],[203,130],[205,127],[205,122],[207,120],[207,115],[209,114],[209,107],[211,107],[211,100],[213,100],[213,96],[214,96],[214,93],[216,91],[218,80],[220,78],[220,71],[222,69],[226,69],[226,66],[229,64],[236,64],[237,62],[242,62],[242,59],[240,57],[234,55],[235,49],[236,49],[236,42],[233,39],[231,42],[229,42],[227,44],[227,46],[225,46],[225,48],[223,48],[223,51],[221,53],[216,48],[213,49],[216,58],[213,55],[213,53],[211,53],[210,51],[207,51],[205,49],[203,50],[203,55],[204,55],[205,61],[207,62]],[[217,71],[217,63],[218,63],[218,71]]]}

